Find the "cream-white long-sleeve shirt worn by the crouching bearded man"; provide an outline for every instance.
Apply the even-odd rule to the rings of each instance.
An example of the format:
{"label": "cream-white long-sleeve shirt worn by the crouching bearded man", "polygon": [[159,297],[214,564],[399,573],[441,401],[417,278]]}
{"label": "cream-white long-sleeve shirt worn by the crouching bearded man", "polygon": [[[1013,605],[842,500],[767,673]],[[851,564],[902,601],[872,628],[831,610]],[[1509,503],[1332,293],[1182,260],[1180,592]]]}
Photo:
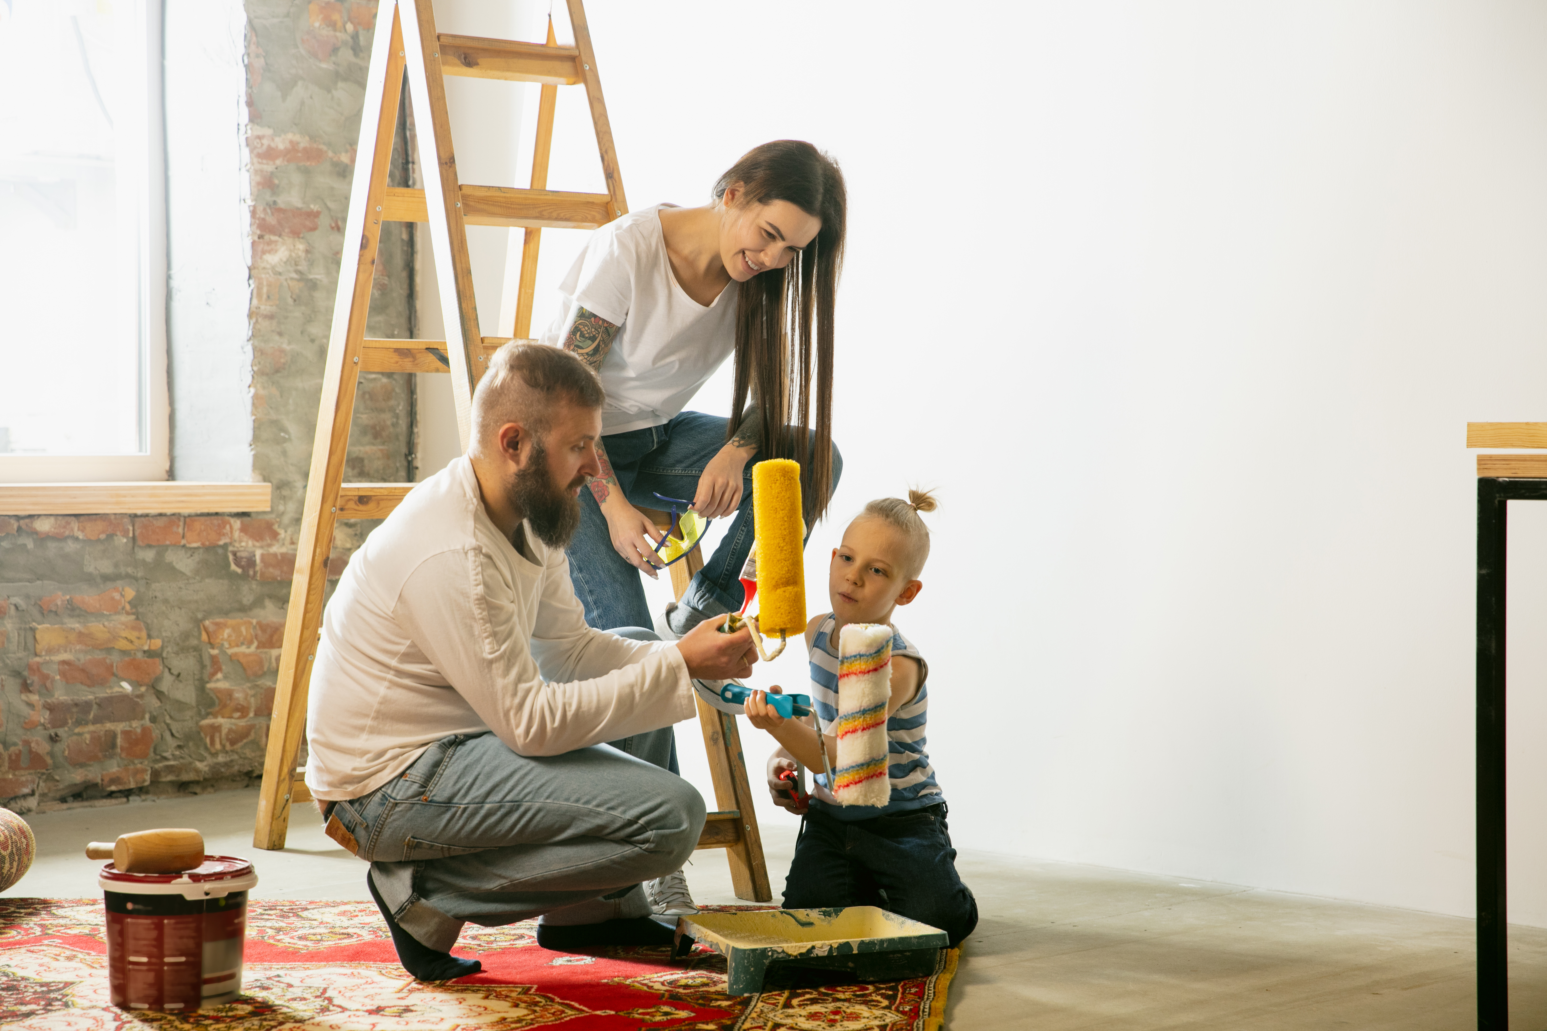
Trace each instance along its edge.
{"label": "cream-white long-sleeve shirt worn by the crouching bearded man", "polygon": [[656,730],[695,713],[673,645],[585,624],[563,549],[524,558],[463,456],[424,481],[350,560],[322,617],[306,706],[306,787],[359,798],[450,734],[523,756]]}

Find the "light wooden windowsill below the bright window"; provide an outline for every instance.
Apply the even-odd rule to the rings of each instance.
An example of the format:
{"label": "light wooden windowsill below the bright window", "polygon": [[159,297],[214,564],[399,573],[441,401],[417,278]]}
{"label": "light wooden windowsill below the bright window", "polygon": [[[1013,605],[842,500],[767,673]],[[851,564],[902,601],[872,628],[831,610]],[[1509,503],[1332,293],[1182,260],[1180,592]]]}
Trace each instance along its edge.
{"label": "light wooden windowsill below the bright window", "polygon": [[268,512],[269,484],[0,484],[0,515]]}

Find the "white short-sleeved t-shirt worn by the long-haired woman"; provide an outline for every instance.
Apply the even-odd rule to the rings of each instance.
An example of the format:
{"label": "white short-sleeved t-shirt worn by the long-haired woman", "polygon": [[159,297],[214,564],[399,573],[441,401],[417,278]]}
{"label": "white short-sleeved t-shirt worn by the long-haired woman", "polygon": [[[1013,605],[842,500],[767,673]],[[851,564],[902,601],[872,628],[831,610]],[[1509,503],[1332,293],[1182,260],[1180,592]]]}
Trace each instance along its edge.
{"label": "white short-sleeved t-shirt worn by the long-haired woman", "polygon": [[563,345],[582,308],[619,326],[597,369],[602,433],[659,427],[687,407],[736,348],[735,284],[707,308],[671,274],[657,204],[591,233],[558,284],[563,305],[541,342]]}

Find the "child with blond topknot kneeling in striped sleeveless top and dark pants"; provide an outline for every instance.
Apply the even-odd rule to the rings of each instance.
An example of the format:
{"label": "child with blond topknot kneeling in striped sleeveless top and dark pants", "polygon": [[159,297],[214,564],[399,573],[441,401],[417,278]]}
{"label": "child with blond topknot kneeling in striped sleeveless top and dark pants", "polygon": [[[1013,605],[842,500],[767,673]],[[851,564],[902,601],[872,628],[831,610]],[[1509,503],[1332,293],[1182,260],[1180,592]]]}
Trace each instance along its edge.
{"label": "child with blond topknot kneeling in striped sleeveless top and dark pants", "polygon": [[[919,490],[910,490],[908,501],[873,501],[832,549],[828,572],[832,612],[806,626],[811,700],[829,764],[837,756],[832,725],[838,717],[838,631],[849,623],[890,624],[893,609],[919,597],[924,587],[919,573],[930,555],[930,530],[919,513],[933,510],[934,498]],[[818,731],[809,722],[783,719],[763,691],[747,699],[746,713],[753,726],[769,731],[781,745],[769,756],[767,767],[769,790],[780,805],[801,812],[784,793],[787,785],[778,779],[780,773],[794,770],[800,760],[817,774],[795,859],[784,878],[784,907],[880,906],[939,927],[954,946],[978,926],[978,903],[956,875],[945,796],[924,750],[928,665],[908,638],[893,631],[886,805],[838,805],[820,773]]]}

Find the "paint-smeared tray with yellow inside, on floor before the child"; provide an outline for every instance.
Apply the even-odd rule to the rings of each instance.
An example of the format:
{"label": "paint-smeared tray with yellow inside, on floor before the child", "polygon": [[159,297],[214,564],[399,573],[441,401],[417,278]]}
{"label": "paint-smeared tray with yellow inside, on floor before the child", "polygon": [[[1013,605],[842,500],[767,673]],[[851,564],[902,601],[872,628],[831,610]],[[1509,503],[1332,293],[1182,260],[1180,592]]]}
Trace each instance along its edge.
{"label": "paint-smeared tray with yellow inside, on floor before the child", "polygon": [[845,971],[857,982],[928,977],[948,937],[879,906],[848,906],[679,917],[674,954],[687,955],[693,941],[726,957],[732,995],[752,995],[770,963]]}

